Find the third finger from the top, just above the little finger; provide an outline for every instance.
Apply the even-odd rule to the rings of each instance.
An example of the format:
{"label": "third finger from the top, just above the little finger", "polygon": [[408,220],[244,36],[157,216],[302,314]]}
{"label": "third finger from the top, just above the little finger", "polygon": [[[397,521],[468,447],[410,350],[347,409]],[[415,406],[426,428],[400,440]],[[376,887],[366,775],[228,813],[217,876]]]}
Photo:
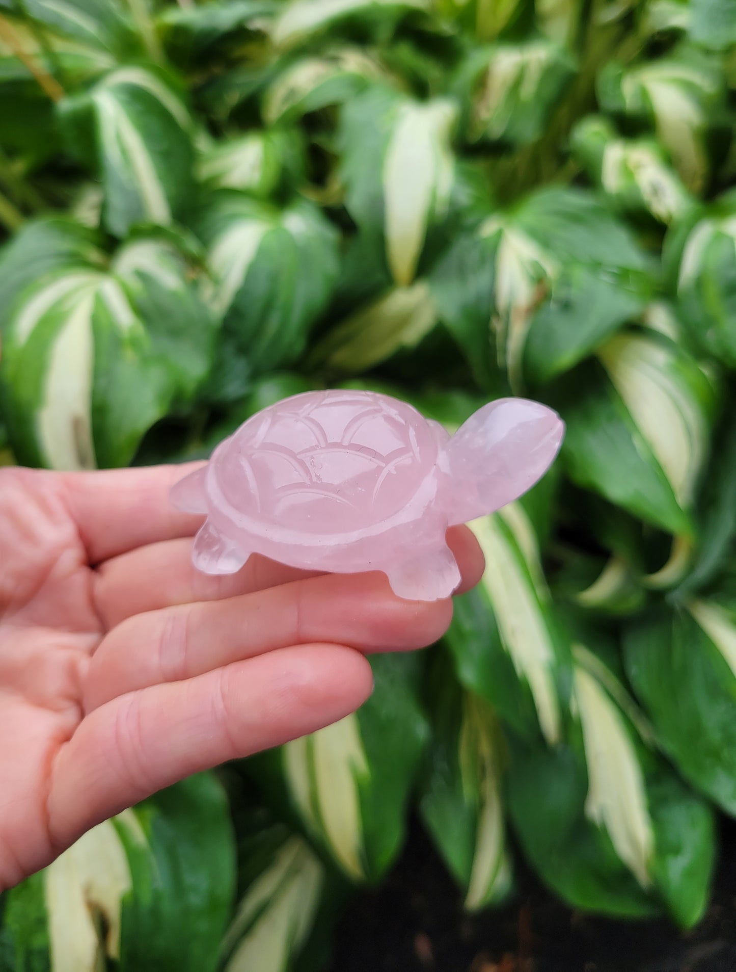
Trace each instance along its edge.
{"label": "third finger from the top, just above the little finger", "polygon": [[381,573],[323,574],[224,601],[153,610],[126,619],[100,643],[87,671],[84,708],[287,645],[418,648],[442,637],[451,618],[451,600],[404,601]]}

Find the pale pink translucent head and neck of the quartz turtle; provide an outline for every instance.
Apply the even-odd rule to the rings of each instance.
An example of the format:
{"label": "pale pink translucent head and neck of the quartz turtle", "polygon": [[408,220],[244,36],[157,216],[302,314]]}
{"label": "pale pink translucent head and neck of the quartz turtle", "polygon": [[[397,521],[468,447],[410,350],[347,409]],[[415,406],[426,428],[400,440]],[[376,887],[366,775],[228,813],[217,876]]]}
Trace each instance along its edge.
{"label": "pale pink translucent head and neck of the quartz turtle", "polygon": [[498,399],[479,408],[440,451],[451,525],[518,499],[552,466],[563,434],[557,413],[536,401]]}

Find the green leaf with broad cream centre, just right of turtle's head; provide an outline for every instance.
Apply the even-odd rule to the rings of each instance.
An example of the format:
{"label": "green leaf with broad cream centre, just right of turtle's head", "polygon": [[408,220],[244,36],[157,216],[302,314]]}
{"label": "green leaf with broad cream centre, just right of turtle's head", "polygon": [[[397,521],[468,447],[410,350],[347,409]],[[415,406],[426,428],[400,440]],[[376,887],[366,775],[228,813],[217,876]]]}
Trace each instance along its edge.
{"label": "green leaf with broad cream centre, just right of turtle's head", "polygon": [[656,333],[625,332],[555,399],[570,477],[652,526],[690,536],[717,393],[700,365]]}

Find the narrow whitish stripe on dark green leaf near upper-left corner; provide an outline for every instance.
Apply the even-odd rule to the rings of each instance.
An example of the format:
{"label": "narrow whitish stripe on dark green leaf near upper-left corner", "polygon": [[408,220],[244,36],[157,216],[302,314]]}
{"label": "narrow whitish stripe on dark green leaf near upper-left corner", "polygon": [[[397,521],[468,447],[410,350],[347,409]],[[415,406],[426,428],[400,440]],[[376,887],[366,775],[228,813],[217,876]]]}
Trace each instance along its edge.
{"label": "narrow whitish stripe on dark green leaf near upper-left corner", "polygon": [[[102,143],[110,162],[139,194],[145,215],[160,226],[171,223],[171,207],[141,133],[111,91],[95,93]],[[134,177],[134,182],[130,176]]]}

